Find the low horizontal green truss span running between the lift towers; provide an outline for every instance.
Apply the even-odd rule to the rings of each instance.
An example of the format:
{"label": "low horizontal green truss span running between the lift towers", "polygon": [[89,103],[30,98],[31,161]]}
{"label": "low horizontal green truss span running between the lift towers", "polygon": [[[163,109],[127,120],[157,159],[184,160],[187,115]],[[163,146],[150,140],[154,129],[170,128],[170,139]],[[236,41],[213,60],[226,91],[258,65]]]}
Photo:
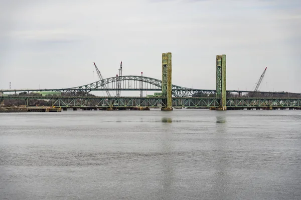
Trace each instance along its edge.
{"label": "low horizontal green truss span running between the lift towers", "polygon": [[[25,99],[45,100],[50,106],[60,107],[133,107],[165,106],[163,97],[107,97],[107,96],[61,96],[61,97],[43,97],[43,96],[0,96],[0,102],[5,99]],[[219,107],[219,98],[215,97],[173,97],[174,107],[187,108],[215,108]],[[17,102],[16,101],[16,102]],[[28,104],[27,104],[28,105]],[[258,98],[258,97],[230,97],[227,99],[228,109],[300,109],[301,98]]]}

